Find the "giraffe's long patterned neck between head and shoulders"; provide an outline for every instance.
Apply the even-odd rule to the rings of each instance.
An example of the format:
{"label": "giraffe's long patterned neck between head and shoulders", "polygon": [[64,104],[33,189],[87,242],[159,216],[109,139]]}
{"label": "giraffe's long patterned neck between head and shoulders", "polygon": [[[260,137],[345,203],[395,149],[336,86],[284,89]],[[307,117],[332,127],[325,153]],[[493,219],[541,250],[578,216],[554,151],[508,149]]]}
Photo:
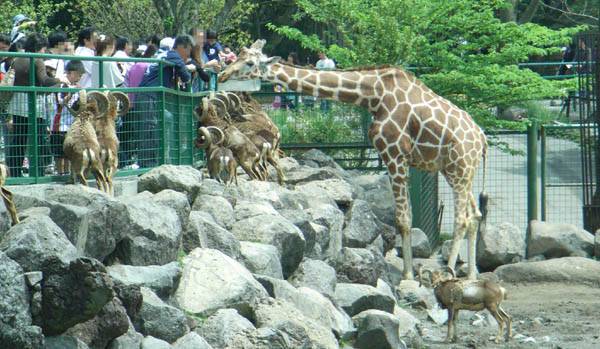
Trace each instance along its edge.
{"label": "giraffe's long patterned neck between head and shoulders", "polygon": [[[317,70],[275,64],[264,80],[298,93],[361,106],[376,113],[387,93],[386,82],[402,72],[395,67],[365,70]],[[408,77],[408,76],[407,76]]]}

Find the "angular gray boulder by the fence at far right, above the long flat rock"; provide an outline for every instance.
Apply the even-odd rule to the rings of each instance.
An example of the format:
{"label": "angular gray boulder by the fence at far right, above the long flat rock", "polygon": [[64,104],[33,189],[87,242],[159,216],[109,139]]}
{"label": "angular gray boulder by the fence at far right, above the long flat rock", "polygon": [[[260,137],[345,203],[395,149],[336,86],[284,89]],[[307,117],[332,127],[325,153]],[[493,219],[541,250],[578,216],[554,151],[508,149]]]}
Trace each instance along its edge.
{"label": "angular gray boulder by the fence at far right, above the long flat rock", "polygon": [[571,224],[532,221],[527,258],[544,255],[546,258],[591,257],[594,236]]}

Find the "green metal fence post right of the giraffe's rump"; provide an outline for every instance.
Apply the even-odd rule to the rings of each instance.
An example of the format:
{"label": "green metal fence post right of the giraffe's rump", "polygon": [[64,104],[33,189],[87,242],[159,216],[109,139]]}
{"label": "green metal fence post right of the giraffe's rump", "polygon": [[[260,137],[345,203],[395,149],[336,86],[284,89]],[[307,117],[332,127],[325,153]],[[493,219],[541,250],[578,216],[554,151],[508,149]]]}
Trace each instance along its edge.
{"label": "green metal fence post right of the giraffe's rump", "polygon": [[527,126],[527,241],[531,237],[531,221],[538,215],[538,122]]}

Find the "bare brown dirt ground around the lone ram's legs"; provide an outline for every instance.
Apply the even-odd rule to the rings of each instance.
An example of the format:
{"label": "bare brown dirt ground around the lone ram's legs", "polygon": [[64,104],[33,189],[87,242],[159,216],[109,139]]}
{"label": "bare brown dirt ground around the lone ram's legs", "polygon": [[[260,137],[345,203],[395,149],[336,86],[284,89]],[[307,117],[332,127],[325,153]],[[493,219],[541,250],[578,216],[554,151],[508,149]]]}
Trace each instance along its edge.
{"label": "bare brown dirt ground around the lone ram's legs", "polygon": [[495,344],[491,340],[497,333],[497,325],[491,316],[488,318],[486,310],[477,315],[462,311],[458,341],[450,344],[443,342],[447,325],[438,326],[423,313],[419,316],[422,341],[407,344],[416,348],[457,349],[600,348],[600,288],[566,283],[504,283],[503,286],[508,290],[508,299],[502,307],[512,317],[513,324],[513,338],[509,342]]}

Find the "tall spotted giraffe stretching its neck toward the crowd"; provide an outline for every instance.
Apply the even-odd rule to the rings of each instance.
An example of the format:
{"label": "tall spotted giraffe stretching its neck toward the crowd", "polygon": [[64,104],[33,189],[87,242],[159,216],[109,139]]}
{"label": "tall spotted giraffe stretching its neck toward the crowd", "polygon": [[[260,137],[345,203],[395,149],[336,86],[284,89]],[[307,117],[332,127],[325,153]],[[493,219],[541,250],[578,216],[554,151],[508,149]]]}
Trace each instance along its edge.
{"label": "tall spotted giraffe stretching its neck toward the crowd", "polygon": [[[408,167],[412,166],[441,172],[452,188],[455,217],[448,266],[455,267],[460,240],[466,233],[467,277],[476,279],[475,244],[485,216],[475,202],[472,186],[482,159],[485,184],[487,140],[471,116],[396,66],[316,70],[280,63],[281,57],[267,57],[262,53],[264,44],[257,40],[249,49],[243,48],[237,60],[219,74],[219,82],[260,78],[301,94],[368,109],[373,115],[368,137],[387,167],[394,195],[404,278],[412,280],[414,275],[407,188]],[[480,205],[485,203],[483,189]],[[482,211],[487,209],[482,207]]]}

